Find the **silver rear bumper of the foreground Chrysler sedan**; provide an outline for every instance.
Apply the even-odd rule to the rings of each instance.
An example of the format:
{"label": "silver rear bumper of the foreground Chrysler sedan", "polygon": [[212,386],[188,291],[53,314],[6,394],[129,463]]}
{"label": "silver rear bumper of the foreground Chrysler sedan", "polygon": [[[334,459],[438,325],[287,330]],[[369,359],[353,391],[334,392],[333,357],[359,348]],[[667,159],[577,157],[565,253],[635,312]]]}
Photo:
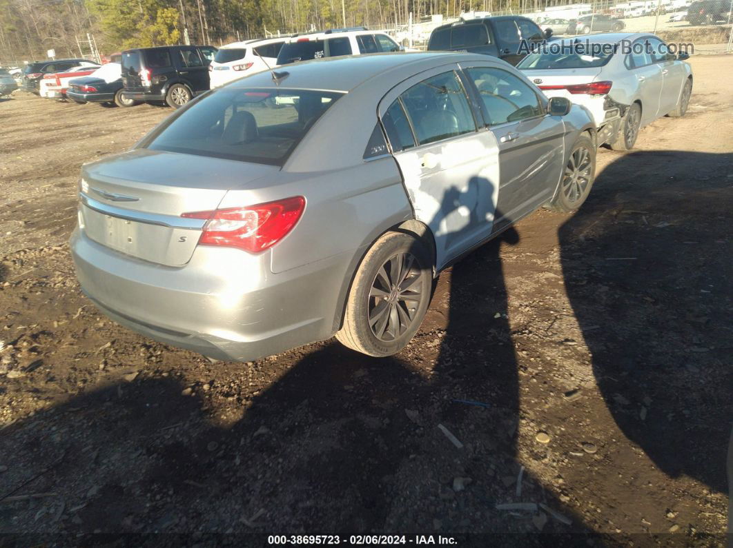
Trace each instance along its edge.
{"label": "silver rear bumper of the foreground Chrysler sedan", "polygon": [[351,254],[273,274],[270,253],[199,246],[167,267],[108,249],[78,228],[81,288],[100,311],[146,337],[217,359],[250,361],[334,334]]}

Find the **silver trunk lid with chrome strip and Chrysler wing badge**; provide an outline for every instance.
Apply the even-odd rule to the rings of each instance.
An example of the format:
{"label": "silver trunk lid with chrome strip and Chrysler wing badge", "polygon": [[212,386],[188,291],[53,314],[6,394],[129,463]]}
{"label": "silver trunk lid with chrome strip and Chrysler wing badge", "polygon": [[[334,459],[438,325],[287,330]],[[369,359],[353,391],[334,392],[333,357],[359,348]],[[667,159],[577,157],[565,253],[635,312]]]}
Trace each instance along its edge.
{"label": "silver trunk lid with chrome strip and Chrysler wing badge", "polygon": [[272,165],[136,149],[82,168],[79,223],[90,239],[166,266],[191,260],[204,219],[227,190],[270,181]]}

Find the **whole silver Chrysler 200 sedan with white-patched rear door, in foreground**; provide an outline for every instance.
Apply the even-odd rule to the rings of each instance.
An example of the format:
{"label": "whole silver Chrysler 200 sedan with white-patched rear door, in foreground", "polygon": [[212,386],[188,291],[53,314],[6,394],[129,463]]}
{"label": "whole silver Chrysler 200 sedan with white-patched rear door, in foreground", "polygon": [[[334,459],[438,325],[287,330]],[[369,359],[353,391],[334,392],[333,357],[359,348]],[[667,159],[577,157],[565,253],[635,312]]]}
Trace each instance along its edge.
{"label": "whole silver Chrysler 200 sedan with white-patched rear door, in foreground", "polygon": [[433,277],[590,192],[595,126],[504,61],[309,61],[192,101],[84,165],[71,246],[110,318],[220,359],[336,337],[401,350]]}

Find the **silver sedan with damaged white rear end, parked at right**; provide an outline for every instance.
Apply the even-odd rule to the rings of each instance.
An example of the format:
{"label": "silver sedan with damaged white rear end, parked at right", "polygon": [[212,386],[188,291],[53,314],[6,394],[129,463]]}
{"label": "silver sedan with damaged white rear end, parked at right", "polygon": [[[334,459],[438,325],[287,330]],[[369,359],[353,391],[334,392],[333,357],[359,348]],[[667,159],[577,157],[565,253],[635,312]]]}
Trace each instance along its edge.
{"label": "silver sedan with damaged white rear end, parked at right", "polygon": [[671,53],[654,34],[594,34],[551,42],[517,68],[548,97],[586,107],[599,144],[629,150],[641,127],[662,116],[685,116],[693,82],[685,59],[687,53]]}

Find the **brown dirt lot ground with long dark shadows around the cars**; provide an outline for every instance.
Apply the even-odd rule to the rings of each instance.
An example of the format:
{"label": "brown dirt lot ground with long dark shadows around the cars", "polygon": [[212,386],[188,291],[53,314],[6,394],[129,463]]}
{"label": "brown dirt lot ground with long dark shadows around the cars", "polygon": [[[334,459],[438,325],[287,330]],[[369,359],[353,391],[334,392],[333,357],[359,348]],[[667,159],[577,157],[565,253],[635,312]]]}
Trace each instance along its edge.
{"label": "brown dirt lot ground with long dark shadows around the cars", "polygon": [[691,62],[684,119],[443,272],[381,360],[212,363],[106,320],[67,245],[79,166],[170,110],[0,101],[0,532],[723,545],[733,56]]}

